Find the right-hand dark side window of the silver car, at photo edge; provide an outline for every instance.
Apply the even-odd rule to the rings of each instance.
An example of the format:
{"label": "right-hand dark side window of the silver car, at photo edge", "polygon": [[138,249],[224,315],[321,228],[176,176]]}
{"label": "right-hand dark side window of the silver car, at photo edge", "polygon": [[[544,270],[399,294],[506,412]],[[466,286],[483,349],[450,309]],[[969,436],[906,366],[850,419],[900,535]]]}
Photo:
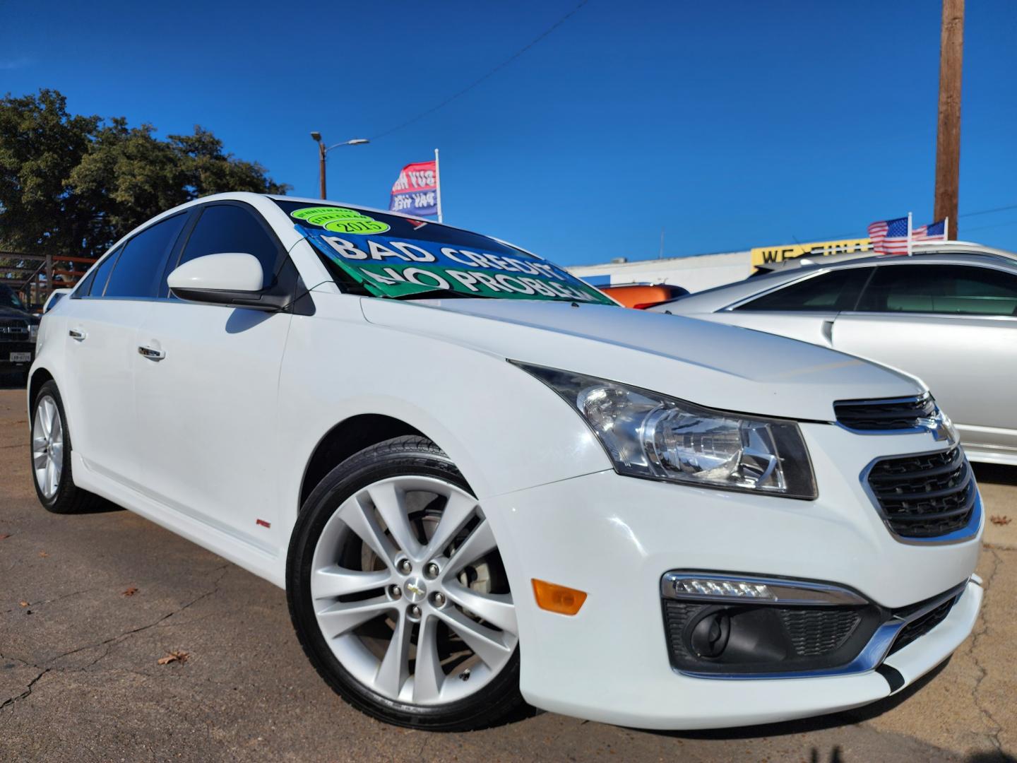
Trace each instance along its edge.
{"label": "right-hand dark side window of the silver car, at photo edge", "polygon": [[876,270],[858,309],[1017,315],[1017,274],[963,265],[887,265]]}

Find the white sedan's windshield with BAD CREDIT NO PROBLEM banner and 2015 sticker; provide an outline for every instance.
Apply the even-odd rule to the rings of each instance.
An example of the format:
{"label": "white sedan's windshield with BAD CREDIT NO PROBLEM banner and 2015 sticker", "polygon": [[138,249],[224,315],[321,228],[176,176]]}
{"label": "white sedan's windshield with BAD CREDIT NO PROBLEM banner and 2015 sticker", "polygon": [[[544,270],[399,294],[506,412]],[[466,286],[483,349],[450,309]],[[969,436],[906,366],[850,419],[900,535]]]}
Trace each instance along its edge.
{"label": "white sedan's windshield with BAD CREDIT NO PROBLEM banner and 2015 sticker", "polygon": [[614,304],[556,265],[487,236],[380,212],[276,202],[337,282],[369,296],[440,294]]}

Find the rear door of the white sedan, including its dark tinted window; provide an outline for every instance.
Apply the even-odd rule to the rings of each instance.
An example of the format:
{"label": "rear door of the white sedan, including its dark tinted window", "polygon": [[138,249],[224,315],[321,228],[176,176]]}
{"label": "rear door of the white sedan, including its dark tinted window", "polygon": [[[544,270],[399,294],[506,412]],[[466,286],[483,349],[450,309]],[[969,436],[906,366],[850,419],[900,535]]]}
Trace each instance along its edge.
{"label": "rear door of the white sedan, including its dark tinted window", "polygon": [[162,220],[110,252],[74,293],[61,380],[74,453],[88,468],[136,486],[136,334],[187,213]]}

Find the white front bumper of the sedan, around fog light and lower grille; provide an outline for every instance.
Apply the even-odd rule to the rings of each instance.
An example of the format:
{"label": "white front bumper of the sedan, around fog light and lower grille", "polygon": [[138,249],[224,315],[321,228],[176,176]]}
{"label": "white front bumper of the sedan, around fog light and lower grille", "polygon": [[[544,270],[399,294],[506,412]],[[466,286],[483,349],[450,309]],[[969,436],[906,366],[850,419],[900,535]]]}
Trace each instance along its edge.
{"label": "white front bumper of the sedan, around fog light and lower grille", "polygon": [[[856,707],[899,691],[968,636],[981,588],[968,582],[939,626],[875,669],[812,678],[718,680],[672,669],[661,577],[704,570],[845,586],[896,609],[968,580],[981,527],[968,540],[895,540],[859,475],[874,456],[935,451],[908,434],[865,437],[802,425],[820,496],[814,502],[685,487],[613,471],[484,498],[514,591],[531,579],[588,593],[575,617],[517,596],[521,689],[556,712],[647,728],[765,723]],[[884,670],[884,672],[887,672]]]}

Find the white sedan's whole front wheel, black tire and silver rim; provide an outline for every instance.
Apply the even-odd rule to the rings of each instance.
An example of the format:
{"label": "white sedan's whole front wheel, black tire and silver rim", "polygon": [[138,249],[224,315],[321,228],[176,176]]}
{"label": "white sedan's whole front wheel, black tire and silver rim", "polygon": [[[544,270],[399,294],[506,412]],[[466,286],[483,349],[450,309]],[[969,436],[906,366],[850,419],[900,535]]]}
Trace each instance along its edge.
{"label": "white sedan's whole front wheel, black tire and silver rim", "polygon": [[523,703],[490,523],[428,439],[386,441],[321,481],[294,529],[287,590],[311,662],[376,718],[465,730]]}

